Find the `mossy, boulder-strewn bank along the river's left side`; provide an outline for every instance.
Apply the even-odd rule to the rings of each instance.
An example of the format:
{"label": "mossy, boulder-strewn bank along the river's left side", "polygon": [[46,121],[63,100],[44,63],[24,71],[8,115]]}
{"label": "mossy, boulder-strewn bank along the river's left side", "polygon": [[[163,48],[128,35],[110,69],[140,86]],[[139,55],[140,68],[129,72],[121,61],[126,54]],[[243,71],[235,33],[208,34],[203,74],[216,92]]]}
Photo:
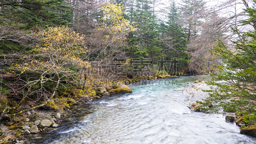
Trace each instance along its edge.
{"label": "mossy, boulder-strewn bank along the river's left side", "polygon": [[[91,92],[82,89],[60,89],[57,91],[55,101],[51,101],[43,108],[29,110],[24,114],[15,117],[13,120],[2,121],[0,125],[0,142],[8,143],[26,143],[29,139],[36,138],[38,133],[44,133],[54,130],[58,123],[66,115],[71,113],[76,105],[82,105],[94,99],[100,99],[103,96],[111,94],[130,93],[132,90],[125,84],[132,84],[140,80],[163,79],[175,77],[170,75],[137,76],[112,81],[110,85],[104,87],[93,87]],[[63,101],[61,101],[61,99]],[[27,101],[19,109],[29,109],[36,106],[33,100]],[[43,124],[47,122],[49,124]],[[42,123],[42,124],[41,124]],[[2,144],[1,143],[1,144]]]}

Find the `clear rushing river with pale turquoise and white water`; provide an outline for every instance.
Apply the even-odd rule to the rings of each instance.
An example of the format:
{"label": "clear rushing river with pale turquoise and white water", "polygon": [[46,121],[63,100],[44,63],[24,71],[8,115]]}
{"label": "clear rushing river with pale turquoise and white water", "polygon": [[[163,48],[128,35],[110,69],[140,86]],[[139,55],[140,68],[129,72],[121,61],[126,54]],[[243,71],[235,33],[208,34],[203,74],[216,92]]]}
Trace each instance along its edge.
{"label": "clear rushing river with pale turquoise and white water", "polygon": [[30,143],[247,144],[256,138],[240,134],[234,123],[216,114],[191,112],[186,84],[209,76],[157,79],[128,85],[133,93],[93,100],[72,109],[57,129]]}

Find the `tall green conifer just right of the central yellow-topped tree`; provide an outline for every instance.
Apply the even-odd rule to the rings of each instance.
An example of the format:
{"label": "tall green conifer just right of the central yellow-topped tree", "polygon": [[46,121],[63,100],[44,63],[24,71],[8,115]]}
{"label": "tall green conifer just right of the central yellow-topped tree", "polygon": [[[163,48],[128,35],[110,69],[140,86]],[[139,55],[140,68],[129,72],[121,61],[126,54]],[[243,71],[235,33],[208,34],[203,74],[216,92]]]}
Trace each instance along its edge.
{"label": "tall green conifer just right of the central yellow-topped tree", "polygon": [[[158,57],[161,52],[160,41],[157,39],[158,24],[153,15],[149,0],[137,0],[130,12],[130,20],[135,22],[137,31],[130,33],[130,56],[134,58]],[[153,60],[155,61],[155,60]]]}

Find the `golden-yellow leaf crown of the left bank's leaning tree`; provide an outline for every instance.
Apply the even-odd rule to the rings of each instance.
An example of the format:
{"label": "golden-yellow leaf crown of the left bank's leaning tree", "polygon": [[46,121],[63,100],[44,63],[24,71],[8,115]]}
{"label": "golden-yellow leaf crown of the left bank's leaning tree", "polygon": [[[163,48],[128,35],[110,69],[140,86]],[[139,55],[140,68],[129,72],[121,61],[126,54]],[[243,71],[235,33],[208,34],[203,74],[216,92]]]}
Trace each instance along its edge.
{"label": "golden-yellow leaf crown of the left bank's leaning tree", "polygon": [[[90,67],[90,63],[80,59],[80,54],[88,52],[84,44],[84,35],[79,35],[66,26],[48,27],[39,32],[34,32],[36,36],[43,37],[40,44],[30,51],[30,54],[22,56],[22,63],[13,63],[13,69],[20,71],[70,71],[64,68],[73,65],[80,68]],[[72,71],[70,71],[72,72]]]}

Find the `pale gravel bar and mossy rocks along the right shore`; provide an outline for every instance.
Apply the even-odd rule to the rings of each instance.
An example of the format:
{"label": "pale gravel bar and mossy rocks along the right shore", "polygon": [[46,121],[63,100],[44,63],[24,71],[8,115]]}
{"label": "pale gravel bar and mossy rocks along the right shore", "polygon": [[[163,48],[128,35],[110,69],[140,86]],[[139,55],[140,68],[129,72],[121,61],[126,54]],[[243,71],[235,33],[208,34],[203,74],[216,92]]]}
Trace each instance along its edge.
{"label": "pale gravel bar and mossy rocks along the right shore", "polygon": [[[209,97],[209,92],[204,92],[203,90],[211,90],[211,86],[207,85],[204,81],[196,81],[195,83],[187,84],[188,89],[184,90],[183,94],[189,94],[189,104],[188,108],[191,111],[196,112],[204,112],[204,113],[211,113],[209,110],[205,110],[204,108],[200,108],[200,104],[196,101],[203,101],[203,99]],[[209,108],[212,107],[212,104],[208,106]],[[233,123],[235,122],[237,126],[240,127],[241,134],[248,134],[252,136],[256,136],[256,125],[249,125],[246,123],[246,116],[239,113],[225,113],[226,122]]]}

